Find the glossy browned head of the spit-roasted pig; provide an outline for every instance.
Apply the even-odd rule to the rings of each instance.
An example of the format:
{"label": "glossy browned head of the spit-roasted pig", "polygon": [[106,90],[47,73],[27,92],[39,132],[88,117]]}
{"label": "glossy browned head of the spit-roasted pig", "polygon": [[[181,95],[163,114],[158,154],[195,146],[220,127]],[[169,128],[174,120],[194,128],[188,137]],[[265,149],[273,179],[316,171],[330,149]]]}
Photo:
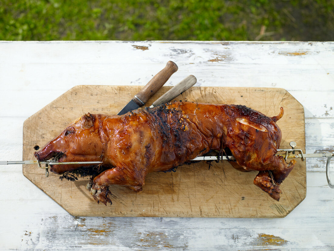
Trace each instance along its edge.
{"label": "glossy browned head of the spit-roasted pig", "polygon": [[[39,161],[51,158],[57,162],[100,161],[102,152],[97,115],[88,113],[70,123],[34,155]],[[81,166],[83,165],[51,165],[50,171],[60,174]]]}

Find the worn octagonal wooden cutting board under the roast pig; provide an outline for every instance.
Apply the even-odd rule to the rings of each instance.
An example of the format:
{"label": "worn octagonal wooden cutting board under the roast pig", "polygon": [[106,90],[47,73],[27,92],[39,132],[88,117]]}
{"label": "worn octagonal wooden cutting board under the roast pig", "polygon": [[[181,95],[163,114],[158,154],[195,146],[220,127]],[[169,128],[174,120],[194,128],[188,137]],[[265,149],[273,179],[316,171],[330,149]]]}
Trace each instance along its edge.
{"label": "worn octagonal wooden cutting board under the roast pig", "polygon": [[[148,106],[171,87],[163,87]],[[34,159],[34,147],[43,147],[71,121],[84,113],[117,114],[141,86],[76,86],[29,117],[23,125],[23,159]],[[278,88],[192,87],[176,98],[213,104],[241,104],[278,121],[281,148],[305,152],[304,108],[286,90]],[[151,103],[150,103],[151,102]],[[239,172],[227,162],[204,161],[182,165],[176,172],[149,173],[143,192],[111,186],[112,205],[97,204],[86,189],[88,178],[59,179],[36,165],[23,165],[23,174],[73,216],[242,217],[278,218],[289,214],[306,196],[306,164],[297,159],[282,183],[281,200],[270,198],[253,184],[257,171]]]}

